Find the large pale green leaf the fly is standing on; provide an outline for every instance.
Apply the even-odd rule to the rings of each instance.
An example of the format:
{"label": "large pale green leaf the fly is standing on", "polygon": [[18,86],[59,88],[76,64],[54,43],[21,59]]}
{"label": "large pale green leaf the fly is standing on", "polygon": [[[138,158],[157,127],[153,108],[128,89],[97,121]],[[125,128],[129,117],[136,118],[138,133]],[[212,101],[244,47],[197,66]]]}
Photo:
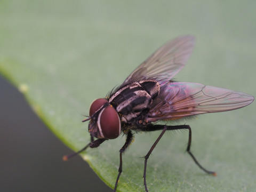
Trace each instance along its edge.
{"label": "large pale green leaf the fly is standing on", "polygon": [[[90,141],[82,123],[90,103],[121,84],[159,46],[183,34],[197,38],[178,81],[256,95],[255,1],[1,1],[0,71],[35,113],[73,150]],[[1,88],[1,87],[0,87]],[[165,134],[148,160],[149,191],[253,191],[256,188],[255,102],[180,124],[193,130]],[[178,124],[178,122],[174,122]],[[123,156],[118,191],[144,191],[143,157],[160,132],[135,135]],[[88,149],[83,158],[110,187],[125,137]]]}

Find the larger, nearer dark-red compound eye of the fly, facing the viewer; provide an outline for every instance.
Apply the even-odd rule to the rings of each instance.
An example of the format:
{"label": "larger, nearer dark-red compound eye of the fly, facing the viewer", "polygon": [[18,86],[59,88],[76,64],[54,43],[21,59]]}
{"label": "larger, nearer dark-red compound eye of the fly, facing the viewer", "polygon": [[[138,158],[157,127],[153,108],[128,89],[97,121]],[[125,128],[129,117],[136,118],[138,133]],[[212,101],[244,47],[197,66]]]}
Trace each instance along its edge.
{"label": "larger, nearer dark-red compound eye of the fly, facing the viewer", "polygon": [[99,128],[106,139],[115,139],[121,133],[120,118],[113,106],[110,105],[103,109]]}

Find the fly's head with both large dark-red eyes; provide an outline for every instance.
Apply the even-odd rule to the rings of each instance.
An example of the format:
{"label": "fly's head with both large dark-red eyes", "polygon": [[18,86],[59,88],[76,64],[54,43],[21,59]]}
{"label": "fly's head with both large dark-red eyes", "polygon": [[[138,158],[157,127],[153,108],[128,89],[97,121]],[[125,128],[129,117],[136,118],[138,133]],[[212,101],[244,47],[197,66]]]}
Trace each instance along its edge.
{"label": "fly's head with both large dark-red eyes", "polygon": [[119,115],[107,99],[93,101],[89,114],[90,122],[88,129],[92,137],[98,139],[115,139],[121,133]]}

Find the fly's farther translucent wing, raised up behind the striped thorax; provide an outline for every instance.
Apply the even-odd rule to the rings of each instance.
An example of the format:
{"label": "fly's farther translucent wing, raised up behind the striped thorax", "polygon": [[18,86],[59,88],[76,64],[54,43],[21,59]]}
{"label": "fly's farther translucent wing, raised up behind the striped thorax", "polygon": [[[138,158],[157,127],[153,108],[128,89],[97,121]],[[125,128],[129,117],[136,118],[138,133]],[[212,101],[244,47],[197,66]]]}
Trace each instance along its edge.
{"label": "fly's farther translucent wing, raised up behind the striped thorax", "polygon": [[171,79],[188,61],[195,44],[195,37],[180,36],[167,42],[141,63],[124,81],[124,84],[143,77]]}

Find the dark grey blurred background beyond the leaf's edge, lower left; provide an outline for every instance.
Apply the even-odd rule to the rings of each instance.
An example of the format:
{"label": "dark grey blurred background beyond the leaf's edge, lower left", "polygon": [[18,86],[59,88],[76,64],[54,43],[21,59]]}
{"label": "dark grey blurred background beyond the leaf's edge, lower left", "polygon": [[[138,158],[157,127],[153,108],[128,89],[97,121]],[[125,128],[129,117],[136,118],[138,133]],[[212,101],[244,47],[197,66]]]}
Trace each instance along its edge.
{"label": "dark grey blurred background beyond the leaf's edge, lower left", "polygon": [[0,191],[112,191],[70,153],[0,76]]}

